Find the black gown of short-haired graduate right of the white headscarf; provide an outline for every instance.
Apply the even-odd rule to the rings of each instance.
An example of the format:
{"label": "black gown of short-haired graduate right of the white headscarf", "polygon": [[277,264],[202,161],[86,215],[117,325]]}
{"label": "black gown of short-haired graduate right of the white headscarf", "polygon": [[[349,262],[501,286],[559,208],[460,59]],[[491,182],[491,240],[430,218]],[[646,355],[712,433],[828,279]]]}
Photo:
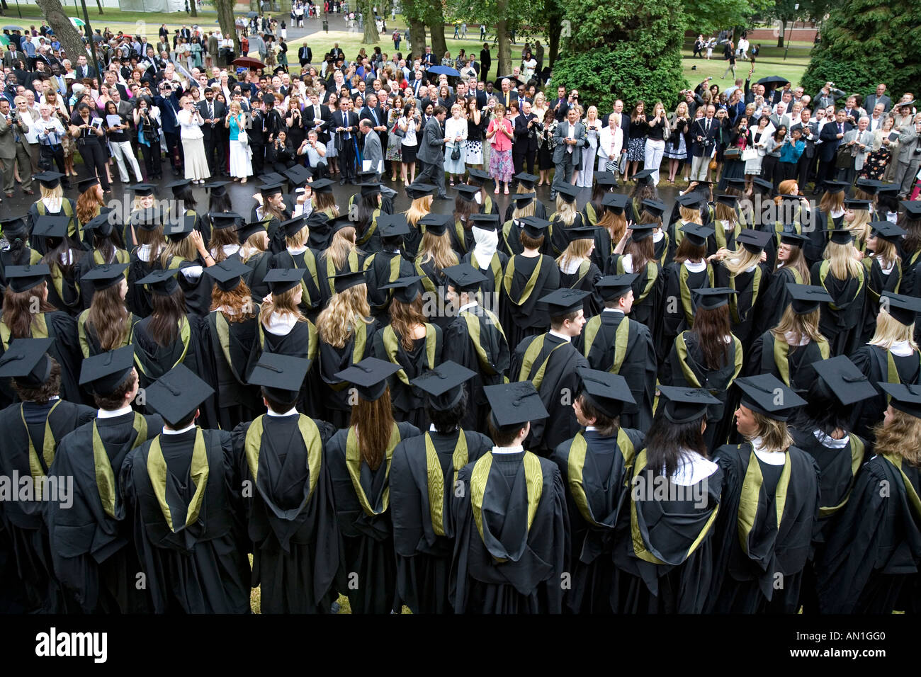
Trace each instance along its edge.
{"label": "black gown of short-haired graduate right of the white headscarf", "polygon": [[560,269],[549,256],[528,258],[519,254],[508,259],[499,293],[499,321],[509,346],[547,330],[550,315],[539,299],[559,286]]}

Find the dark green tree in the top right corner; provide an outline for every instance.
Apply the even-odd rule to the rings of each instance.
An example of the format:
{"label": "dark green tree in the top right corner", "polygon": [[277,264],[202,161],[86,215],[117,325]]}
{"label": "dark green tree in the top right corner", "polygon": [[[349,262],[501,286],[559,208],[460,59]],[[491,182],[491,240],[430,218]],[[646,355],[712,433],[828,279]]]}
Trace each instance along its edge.
{"label": "dark green tree in the top right corner", "polygon": [[822,24],[802,78],[807,91],[826,82],[867,94],[886,83],[892,99],[921,86],[921,22],[909,0],[842,0]]}

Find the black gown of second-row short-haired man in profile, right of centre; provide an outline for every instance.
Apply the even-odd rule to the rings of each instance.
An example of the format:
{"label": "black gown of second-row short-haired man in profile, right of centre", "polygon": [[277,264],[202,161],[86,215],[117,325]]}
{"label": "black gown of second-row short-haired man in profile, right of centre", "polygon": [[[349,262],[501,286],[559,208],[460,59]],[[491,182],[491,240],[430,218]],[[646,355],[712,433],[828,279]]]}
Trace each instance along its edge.
{"label": "black gown of second-row short-haired man in profile, right of centre", "polygon": [[552,333],[524,339],[512,354],[508,378],[530,380],[541,396],[549,418],[531,421],[528,449],[547,457],[565,439],[579,430],[572,400],[578,391],[576,369],[589,361],[576,347]]}

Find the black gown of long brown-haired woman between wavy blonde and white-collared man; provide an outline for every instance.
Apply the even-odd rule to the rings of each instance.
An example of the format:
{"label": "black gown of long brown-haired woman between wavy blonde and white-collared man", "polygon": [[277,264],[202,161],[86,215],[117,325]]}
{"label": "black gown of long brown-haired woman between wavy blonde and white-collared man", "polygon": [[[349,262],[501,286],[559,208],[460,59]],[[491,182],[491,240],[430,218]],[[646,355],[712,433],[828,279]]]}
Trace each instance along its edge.
{"label": "black gown of long brown-haired woman between wavy blonde and white-collared man", "polygon": [[426,322],[426,335],[414,339],[410,350],[402,344],[399,333],[388,324],[378,333],[374,334],[371,355],[391,362],[400,367],[400,371],[388,379],[391,388],[391,403],[393,404],[393,417],[398,421],[406,421],[417,428],[425,428],[426,393],[416,388],[410,381],[416,379],[426,371],[436,368],[441,364],[443,340],[441,329],[437,324]]}

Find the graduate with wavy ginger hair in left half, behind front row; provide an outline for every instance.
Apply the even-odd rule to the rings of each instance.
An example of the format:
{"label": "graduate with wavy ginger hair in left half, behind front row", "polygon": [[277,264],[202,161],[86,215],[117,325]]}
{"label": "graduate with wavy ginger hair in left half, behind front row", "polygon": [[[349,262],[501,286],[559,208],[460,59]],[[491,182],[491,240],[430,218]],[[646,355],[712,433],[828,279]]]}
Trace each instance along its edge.
{"label": "graduate with wavy ginger hair in left half, behind front row", "polygon": [[261,409],[255,389],[249,385],[253,344],[259,328],[258,303],[252,300],[244,279],[251,274],[239,259],[229,258],[205,269],[214,280],[211,291],[213,310],[201,322],[204,360],[201,375],[215,390],[207,414],[216,420],[203,423],[212,428],[233,430],[242,421],[251,421]]}

